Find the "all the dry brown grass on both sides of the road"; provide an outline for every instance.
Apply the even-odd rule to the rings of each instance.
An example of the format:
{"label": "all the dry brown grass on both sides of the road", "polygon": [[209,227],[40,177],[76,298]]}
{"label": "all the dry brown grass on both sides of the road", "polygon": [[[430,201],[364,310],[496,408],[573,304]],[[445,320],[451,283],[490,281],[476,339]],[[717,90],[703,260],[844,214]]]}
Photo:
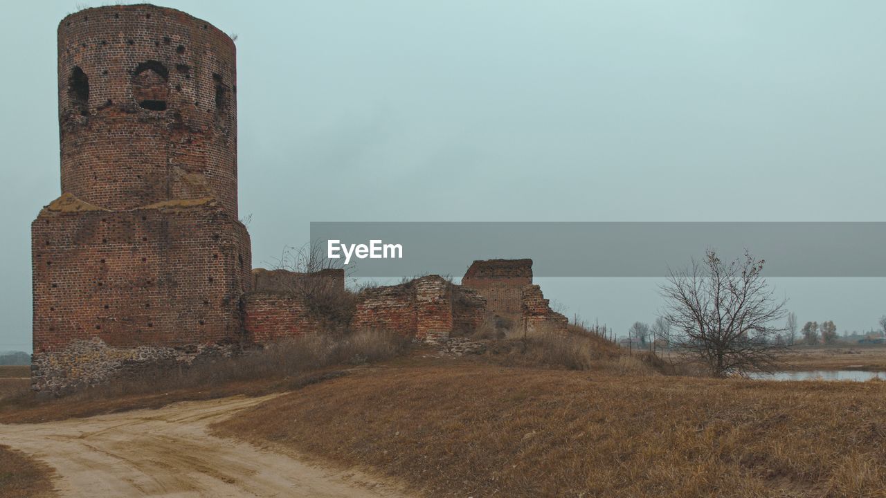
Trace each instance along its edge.
{"label": "all the dry brown grass on both sides of the road", "polygon": [[[653,354],[573,332],[463,357],[398,355],[402,345],[379,337],[332,349],[307,338],[51,400],[27,393],[16,378],[27,369],[0,369],[0,423],[284,392],[214,433],[429,497],[886,498],[886,383],[679,376],[687,370]],[[797,348],[786,361],[876,370],[886,348]],[[50,470],[22,456],[0,447],[0,461],[15,462],[0,496],[48,491]]]}

